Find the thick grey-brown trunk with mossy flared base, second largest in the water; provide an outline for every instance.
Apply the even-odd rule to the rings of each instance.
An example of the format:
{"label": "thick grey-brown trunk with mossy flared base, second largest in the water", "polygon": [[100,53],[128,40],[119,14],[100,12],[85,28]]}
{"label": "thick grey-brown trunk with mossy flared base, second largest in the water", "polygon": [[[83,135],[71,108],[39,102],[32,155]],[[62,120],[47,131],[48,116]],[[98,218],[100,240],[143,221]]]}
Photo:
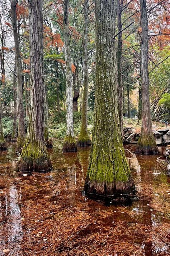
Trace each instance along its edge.
{"label": "thick grey-brown trunk with mossy flared base, second largest in the water", "polygon": [[42,0],[29,0],[30,109],[27,137],[17,163],[20,171],[41,171],[51,167],[44,139],[43,15]]}

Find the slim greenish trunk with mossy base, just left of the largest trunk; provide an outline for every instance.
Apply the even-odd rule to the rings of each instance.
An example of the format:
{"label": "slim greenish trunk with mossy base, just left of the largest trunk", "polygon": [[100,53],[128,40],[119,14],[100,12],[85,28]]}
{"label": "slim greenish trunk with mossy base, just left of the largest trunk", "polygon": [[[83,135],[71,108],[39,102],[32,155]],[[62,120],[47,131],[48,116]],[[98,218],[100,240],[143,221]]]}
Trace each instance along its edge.
{"label": "slim greenish trunk with mossy base, just left of the largest trunk", "polygon": [[84,1],[84,34],[83,34],[83,72],[84,72],[84,87],[82,95],[82,110],[81,110],[81,130],[78,138],[78,145],[82,147],[90,146],[91,140],[88,135],[88,0]]}

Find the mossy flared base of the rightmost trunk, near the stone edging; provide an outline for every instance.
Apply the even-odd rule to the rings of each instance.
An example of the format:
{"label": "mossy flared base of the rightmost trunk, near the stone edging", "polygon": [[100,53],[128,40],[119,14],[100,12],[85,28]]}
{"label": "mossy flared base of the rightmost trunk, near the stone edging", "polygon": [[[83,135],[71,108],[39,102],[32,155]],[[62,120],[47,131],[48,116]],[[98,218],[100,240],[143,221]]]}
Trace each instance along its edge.
{"label": "mossy flared base of the rightmost trunk, near the stone edging", "polygon": [[136,146],[136,153],[141,154],[156,154],[158,153],[158,147],[156,141],[153,138],[139,138],[137,146]]}

